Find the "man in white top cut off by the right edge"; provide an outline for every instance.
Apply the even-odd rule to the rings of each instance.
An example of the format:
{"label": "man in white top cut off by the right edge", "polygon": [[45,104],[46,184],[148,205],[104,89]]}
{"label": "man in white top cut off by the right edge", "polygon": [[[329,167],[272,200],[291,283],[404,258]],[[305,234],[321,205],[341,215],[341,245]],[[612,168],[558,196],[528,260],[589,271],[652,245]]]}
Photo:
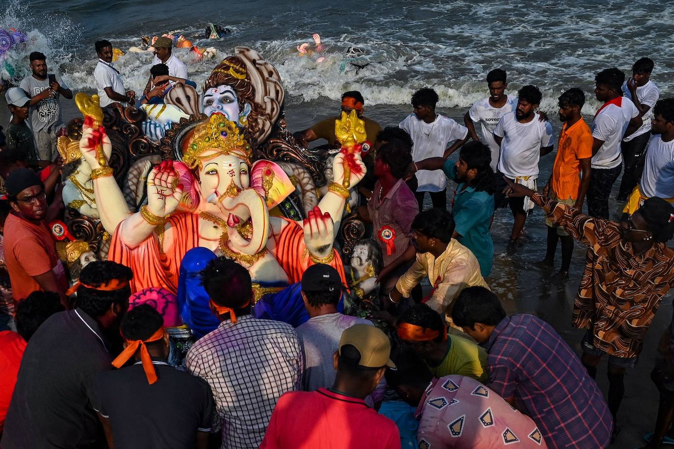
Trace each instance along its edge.
{"label": "man in white top cut off by the right edge", "polygon": [[658,100],[639,189],[643,199],[660,197],[674,202],[674,98]]}

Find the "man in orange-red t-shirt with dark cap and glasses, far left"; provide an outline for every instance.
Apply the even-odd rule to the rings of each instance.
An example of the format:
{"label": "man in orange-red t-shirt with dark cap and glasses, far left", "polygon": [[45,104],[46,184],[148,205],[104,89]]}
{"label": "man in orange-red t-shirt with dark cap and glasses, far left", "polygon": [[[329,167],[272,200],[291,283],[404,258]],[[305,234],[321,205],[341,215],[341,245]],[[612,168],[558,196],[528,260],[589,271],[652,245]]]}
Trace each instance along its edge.
{"label": "man in orange-red t-shirt with dark cap and glasses, far left", "polygon": [[68,281],[44,221],[47,195],[40,176],[30,168],[18,168],[7,176],[5,189],[12,209],[5,221],[5,264],[14,300],[36,290],[54,291],[67,307]]}

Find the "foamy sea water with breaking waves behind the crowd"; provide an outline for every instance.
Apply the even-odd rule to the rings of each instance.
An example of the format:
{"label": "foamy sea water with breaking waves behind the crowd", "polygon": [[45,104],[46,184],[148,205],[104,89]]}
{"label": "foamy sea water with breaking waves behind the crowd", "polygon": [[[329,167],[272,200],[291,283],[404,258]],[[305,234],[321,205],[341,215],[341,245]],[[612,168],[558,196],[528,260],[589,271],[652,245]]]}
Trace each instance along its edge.
{"label": "foamy sea water with breaking waves behind the crowd", "polygon": [[[12,55],[11,64],[18,67],[18,73],[26,73],[28,53],[39,48],[71,88],[92,92],[97,58],[93,42],[77,38],[82,27],[63,19],[60,24],[35,28],[37,22],[31,11],[19,0],[11,2],[9,10],[16,13],[2,18],[0,26],[18,25],[30,30],[30,45],[24,53]],[[335,17],[353,12],[354,7],[367,12],[367,20],[349,15],[353,19],[349,28],[326,18],[328,14],[334,22]],[[510,94],[525,84],[538,85],[544,96],[541,108],[552,112],[563,90],[580,87],[588,98],[583,112],[592,114],[599,107],[592,93],[595,73],[615,66],[629,76],[634,60],[648,55],[656,61],[653,78],[663,96],[674,88],[674,61],[662,56],[666,53],[663,49],[671,46],[667,42],[674,33],[674,5],[667,2],[644,0],[635,6],[617,0],[456,0],[400,6],[382,0],[370,5],[344,1],[330,11],[307,7],[302,14],[275,3],[268,8],[278,11],[266,12],[272,17],[268,22],[251,18],[249,23],[224,24],[233,33],[223,40],[195,38],[196,45],[218,50],[213,59],[195,61],[189,50],[175,49],[177,57],[187,64],[189,77],[203,85],[218,61],[231,55],[235,46],[247,45],[277,67],[288,102],[337,100],[345,90],[360,90],[367,104],[408,104],[415,90],[429,86],[439,94],[440,107],[467,108],[487,96],[487,71],[501,67],[512,81]],[[175,22],[175,18],[171,20]],[[127,50],[140,44],[141,34],[171,30],[156,25],[148,30],[141,22],[137,26],[137,35],[111,36],[110,40]],[[174,31],[193,38],[201,34],[203,26],[191,22]],[[295,47],[311,42],[309,28],[321,32],[326,44],[326,60],[322,63],[297,56]],[[87,33],[92,34],[91,30]],[[663,52],[654,54],[654,43]],[[364,54],[346,56],[351,46],[362,48]],[[151,60],[150,53],[127,53],[117,61],[115,66],[127,88],[144,88]]]}

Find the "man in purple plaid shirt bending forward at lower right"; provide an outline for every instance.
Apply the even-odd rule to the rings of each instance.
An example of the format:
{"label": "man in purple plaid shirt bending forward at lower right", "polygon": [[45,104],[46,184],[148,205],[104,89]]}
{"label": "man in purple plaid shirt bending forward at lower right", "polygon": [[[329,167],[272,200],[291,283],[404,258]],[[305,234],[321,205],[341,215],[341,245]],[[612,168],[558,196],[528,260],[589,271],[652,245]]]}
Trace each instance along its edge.
{"label": "man in purple plaid shirt bending forward at lower right", "polygon": [[487,386],[529,415],[549,448],[605,448],[613,419],[578,356],[532,315],[508,317],[483,287],[464,289],[452,310],[454,324],[489,354]]}

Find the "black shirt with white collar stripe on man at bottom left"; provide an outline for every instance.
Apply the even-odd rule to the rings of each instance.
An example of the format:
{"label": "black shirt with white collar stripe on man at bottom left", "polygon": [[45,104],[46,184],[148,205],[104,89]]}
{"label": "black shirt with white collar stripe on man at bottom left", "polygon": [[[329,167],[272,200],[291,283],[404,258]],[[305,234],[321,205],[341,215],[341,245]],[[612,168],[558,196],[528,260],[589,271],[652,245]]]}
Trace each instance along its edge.
{"label": "black shirt with white collar stripe on man at bottom left", "polygon": [[104,444],[90,397],[94,377],[112,369],[110,345],[96,320],[80,308],[42,323],[26,347],[0,446],[88,449]]}

